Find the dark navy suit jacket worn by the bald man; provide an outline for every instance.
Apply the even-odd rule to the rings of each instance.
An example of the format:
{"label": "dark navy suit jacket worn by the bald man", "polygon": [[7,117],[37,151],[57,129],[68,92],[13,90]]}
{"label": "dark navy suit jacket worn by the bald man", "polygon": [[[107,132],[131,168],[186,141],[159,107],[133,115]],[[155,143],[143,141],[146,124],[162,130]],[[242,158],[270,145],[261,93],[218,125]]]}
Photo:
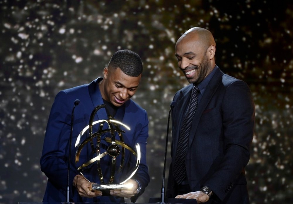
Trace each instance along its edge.
{"label": "dark navy suit jacket worn by the bald man", "polygon": [[[186,173],[191,191],[208,186],[221,203],[249,203],[244,167],[253,139],[254,103],[248,85],[217,66],[197,106],[189,134]],[[172,163],[167,196],[176,196],[172,171],[192,84],[179,90],[172,112]]]}

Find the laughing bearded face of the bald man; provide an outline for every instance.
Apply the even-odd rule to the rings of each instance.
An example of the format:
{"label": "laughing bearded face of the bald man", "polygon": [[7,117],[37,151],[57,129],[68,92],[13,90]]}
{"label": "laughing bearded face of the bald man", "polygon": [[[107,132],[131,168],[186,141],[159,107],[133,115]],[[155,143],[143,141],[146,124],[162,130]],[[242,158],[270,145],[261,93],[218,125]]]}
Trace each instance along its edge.
{"label": "laughing bearded face of the bald man", "polygon": [[178,67],[189,83],[199,84],[215,66],[215,46],[209,44],[209,39],[202,33],[189,32],[176,43]]}

